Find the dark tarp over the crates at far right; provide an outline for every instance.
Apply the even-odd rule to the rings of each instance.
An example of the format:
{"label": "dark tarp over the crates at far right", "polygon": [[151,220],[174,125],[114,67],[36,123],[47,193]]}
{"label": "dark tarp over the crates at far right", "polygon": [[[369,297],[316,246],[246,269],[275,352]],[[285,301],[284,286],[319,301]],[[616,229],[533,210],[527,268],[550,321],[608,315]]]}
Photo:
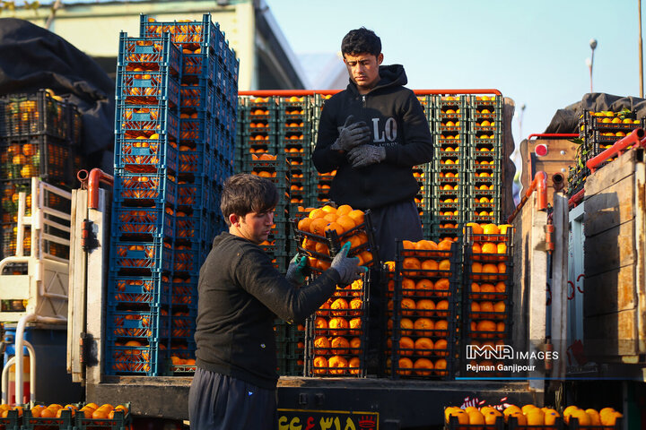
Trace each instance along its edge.
{"label": "dark tarp over the crates at far right", "polygon": [[646,116],[646,99],[591,92],[584,95],[581,101],[572,103],[572,105],[563,107],[563,109],[558,109],[545,133],[579,133],[579,116],[583,114],[584,110],[619,112],[623,109],[634,111],[637,118],[642,118]]}

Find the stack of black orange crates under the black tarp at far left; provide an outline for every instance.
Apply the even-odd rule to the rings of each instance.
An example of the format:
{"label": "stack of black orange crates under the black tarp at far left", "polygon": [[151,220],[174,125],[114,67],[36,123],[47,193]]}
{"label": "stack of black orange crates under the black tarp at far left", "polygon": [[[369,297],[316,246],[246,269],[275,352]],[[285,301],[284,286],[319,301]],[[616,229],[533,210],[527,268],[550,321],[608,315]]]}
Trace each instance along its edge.
{"label": "stack of black orange crates under the black tarp at far left", "polygon": [[[72,188],[81,167],[82,121],[78,109],[51,90],[12,94],[0,98],[0,259],[15,255],[18,193],[31,193],[31,177],[48,184]],[[48,207],[70,211],[69,202],[46,196]],[[31,195],[27,196],[31,215]],[[50,254],[67,258],[66,246],[52,244]],[[31,236],[25,235],[23,249],[29,254]]]}

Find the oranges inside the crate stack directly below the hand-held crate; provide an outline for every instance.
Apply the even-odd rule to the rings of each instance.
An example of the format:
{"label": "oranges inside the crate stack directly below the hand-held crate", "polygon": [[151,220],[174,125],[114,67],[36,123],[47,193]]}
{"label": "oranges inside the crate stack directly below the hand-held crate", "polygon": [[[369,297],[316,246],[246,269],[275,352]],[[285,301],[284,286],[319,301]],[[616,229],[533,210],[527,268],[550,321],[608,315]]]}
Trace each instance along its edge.
{"label": "oranges inside the crate stack directly below the hand-held crate", "polygon": [[363,280],[355,280],[337,287],[335,294],[320,306],[314,320],[312,374],[360,373],[364,299]]}

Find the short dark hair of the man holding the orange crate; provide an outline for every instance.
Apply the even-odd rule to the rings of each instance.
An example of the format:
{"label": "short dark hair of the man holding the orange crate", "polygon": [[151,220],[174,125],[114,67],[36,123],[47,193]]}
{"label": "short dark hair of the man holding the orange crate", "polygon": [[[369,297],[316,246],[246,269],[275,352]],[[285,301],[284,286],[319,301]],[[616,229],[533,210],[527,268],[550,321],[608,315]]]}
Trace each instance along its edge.
{"label": "short dark hair of the man holding the orange crate", "polygon": [[230,226],[229,215],[244,217],[250,212],[268,212],[278,203],[278,190],[265,177],[240,173],[224,181],[220,197],[220,210]]}

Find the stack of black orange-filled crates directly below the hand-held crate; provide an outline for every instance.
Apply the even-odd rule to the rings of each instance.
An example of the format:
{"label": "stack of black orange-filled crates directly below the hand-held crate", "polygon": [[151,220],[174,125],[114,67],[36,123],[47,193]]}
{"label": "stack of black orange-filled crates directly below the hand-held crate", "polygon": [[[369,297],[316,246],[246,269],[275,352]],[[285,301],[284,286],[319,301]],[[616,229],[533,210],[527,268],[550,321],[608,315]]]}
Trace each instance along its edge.
{"label": "stack of black orange-filled crates directly below the hand-held crate", "polygon": [[336,292],[308,319],[305,372],[309,376],[365,377],[370,274]]}

